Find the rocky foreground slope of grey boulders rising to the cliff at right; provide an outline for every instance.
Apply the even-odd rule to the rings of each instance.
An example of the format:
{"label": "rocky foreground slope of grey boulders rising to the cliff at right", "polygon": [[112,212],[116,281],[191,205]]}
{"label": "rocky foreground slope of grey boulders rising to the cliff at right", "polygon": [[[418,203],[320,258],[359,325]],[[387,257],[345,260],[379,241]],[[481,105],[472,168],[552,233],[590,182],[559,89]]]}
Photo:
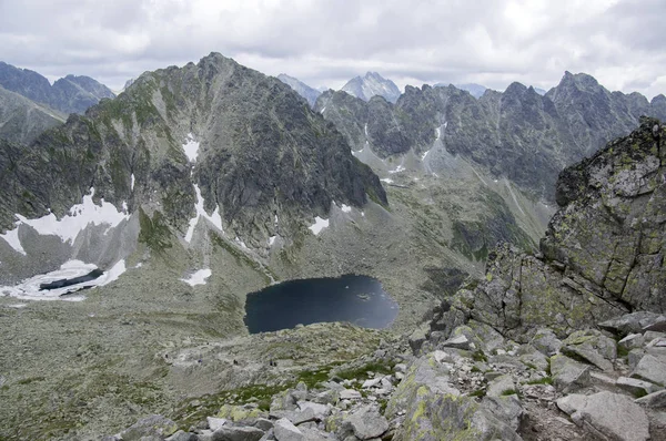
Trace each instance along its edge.
{"label": "rocky foreground slope of grey boulders rising to the cliff at right", "polygon": [[541,255],[492,253],[412,351],[381,341],[291,389],[230,391],[193,425],[153,416],[107,439],[665,440],[665,134],[643,119],[564,171]]}

